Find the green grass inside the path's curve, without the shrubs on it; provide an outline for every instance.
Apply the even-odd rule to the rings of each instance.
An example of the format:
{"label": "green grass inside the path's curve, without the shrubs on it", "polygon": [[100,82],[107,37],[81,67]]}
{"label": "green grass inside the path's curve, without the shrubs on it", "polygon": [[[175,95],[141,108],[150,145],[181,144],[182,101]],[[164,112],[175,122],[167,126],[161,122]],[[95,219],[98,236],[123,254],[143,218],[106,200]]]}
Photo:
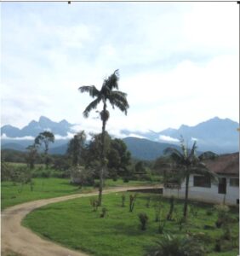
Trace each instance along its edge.
{"label": "green grass inside the path's curve, without the shrubs on it", "polygon": [[[155,245],[163,234],[158,233],[159,222],[155,222],[154,205],[159,195],[138,194],[134,211],[129,212],[129,193],[126,193],[125,207],[122,207],[122,194],[104,195],[103,206],[106,217],[100,218],[102,207],[97,212],[90,205],[90,198],[54,203],[41,207],[26,216],[23,224],[45,239],[59,242],[66,247],[80,249],[98,256],[140,256],[147,248]],[[151,197],[150,206],[146,207]],[[162,214],[165,219],[169,212],[169,200],[161,199]],[[236,220],[231,224],[234,241],[222,241],[223,253],[214,253],[216,239],[223,235],[223,230],[215,227],[217,213],[212,205],[192,203],[189,220],[179,228],[176,219],[182,214],[182,201],[175,203],[174,220],[166,221],[163,232],[182,236],[200,234],[205,238],[205,247],[209,256],[237,256],[238,254],[238,212],[231,209],[231,217]],[[146,212],[148,223],[146,230],[140,230],[138,214]],[[209,213],[210,212],[210,213]],[[161,223],[161,222],[160,222]],[[204,228],[205,226],[205,228]]]}

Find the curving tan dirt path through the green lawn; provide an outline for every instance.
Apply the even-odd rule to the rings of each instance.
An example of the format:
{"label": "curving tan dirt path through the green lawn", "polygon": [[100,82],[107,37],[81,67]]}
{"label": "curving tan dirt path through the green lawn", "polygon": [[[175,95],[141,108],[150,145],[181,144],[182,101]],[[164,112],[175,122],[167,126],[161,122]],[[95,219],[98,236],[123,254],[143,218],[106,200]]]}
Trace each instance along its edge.
{"label": "curving tan dirt path through the green lawn", "polygon": [[[125,187],[117,189],[107,189],[103,194],[111,192],[121,192],[128,189],[146,189],[152,187]],[[26,214],[32,210],[43,207],[50,203],[66,201],[79,197],[98,195],[98,192],[89,194],[65,195],[56,198],[43,199],[26,202],[14,207],[9,207],[2,212],[1,227],[1,253],[3,256],[10,255],[9,252],[19,253],[23,256],[87,256],[86,253],[77,252],[66,247],[62,247],[51,241],[43,240],[31,230],[21,226],[21,221]],[[11,254],[14,255],[14,254]]]}

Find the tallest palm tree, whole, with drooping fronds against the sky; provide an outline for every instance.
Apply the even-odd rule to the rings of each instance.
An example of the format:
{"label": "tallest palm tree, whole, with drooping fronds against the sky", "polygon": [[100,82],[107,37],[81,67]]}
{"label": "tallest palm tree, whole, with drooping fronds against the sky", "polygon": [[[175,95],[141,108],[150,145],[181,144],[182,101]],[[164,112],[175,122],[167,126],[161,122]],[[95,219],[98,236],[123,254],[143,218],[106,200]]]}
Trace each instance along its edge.
{"label": "tallest palm tree, whole, with drooping fronds against the sky", "polygon": [[[85,118],[89,117],[91,110],[97,108],[97,106],[102,102],[103,108],[100,112],[100,119],[102,121],[102,131],[101,131],[101,170],[100,170],[100,188],[99,188],[99,204],[101,205],[102,199],[102,188],[103,188],[103,177],[106,169],[106,155],[105,155],[105,136],[106,136],[106,122],[109,119],[109,112],[107,108],[107,102],[111,104],[112,108],[119,108],[122,112],[127,114],[129,108],[129,103],[127,101],[127,94],[118,90],[118,80],[119,73],[118,69],[112,73],[107,79],[104,79],[101,89],[98,90],[94,85],[81,86],[78,90],[80,92],[88,92],[89,96],[94,99],[93,102],[89,103],[89,106],[83,111],[83,116]],[[116,89],[116,90],[114,90]]]}

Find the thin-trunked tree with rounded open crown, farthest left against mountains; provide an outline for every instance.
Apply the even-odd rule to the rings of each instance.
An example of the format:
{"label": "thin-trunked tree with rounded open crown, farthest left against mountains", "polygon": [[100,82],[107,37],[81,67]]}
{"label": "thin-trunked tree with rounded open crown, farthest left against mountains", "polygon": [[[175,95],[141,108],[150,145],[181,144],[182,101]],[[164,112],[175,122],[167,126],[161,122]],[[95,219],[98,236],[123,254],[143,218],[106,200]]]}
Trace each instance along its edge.
{"label": "thin-trunked tree with rounded open crown, farthest left against mountains", "polygon": [[54,143],[54,134],[50,131],[40,132],[39,135],[35,138],[34,142],[37,146],[44,145],[44,157],[45,157],[45,166],[46,169],[49,168],[49,143]]}

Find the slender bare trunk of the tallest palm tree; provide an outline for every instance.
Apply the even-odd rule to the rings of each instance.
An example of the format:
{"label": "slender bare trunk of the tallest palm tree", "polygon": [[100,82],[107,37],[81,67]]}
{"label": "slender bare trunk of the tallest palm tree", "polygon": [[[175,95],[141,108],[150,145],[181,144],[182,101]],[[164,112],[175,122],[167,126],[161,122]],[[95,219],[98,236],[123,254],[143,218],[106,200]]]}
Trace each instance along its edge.
{"label": "slender bare trunk of the tallest palm tree", "polygon": [[[106,112],[106,103],[104,103],[103,112]],[[105,131],[106,131],[106,119],[102,119],[102,131],[101,131],[101,166],[100,166],[100,187],[99,187],[99,206],[101,206],[103,178],[105,172]]]}

